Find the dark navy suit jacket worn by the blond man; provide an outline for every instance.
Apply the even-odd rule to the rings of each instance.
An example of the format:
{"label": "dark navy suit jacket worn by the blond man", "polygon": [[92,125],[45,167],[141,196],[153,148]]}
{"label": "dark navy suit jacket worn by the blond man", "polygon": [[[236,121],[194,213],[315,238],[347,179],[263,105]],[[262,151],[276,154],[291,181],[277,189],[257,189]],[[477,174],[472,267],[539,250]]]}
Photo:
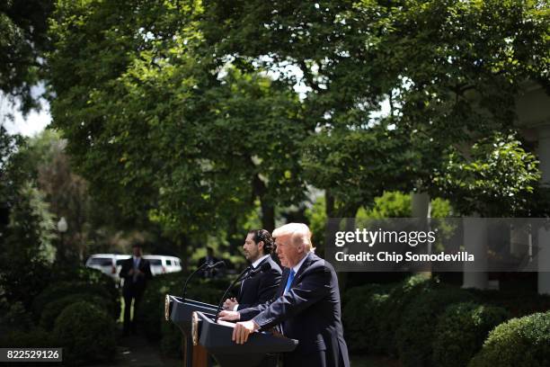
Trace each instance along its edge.
{"label": "dark navy suit jacket worn by the blond man", "polygon": [[297,339],[294,352],[284,354],[285,366],[349,367],[343,338],[340,290],[333,265],[309,253],[283,294],[290,270],[285,268],[276,299],[243,309],[241,320],[253,319],[262,329],[280,324],[285,336]]}

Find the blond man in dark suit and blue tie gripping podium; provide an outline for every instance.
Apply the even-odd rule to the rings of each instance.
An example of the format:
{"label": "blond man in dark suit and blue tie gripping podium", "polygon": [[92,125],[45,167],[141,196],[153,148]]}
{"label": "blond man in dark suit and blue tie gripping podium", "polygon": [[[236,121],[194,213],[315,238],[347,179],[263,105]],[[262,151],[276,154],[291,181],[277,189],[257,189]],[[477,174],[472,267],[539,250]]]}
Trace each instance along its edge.
{"label": "blond man in dark suit and blue tie gripping podium", "polygon": [[255,330],[279,325],[284,336],[299,342],[294,352],[283,355],[285,367],[349,367],[333,266],[313,253],[305,224],[289,223],[275,229],[273,237],[285,266],[278,297],[255,308],[222,311],[220,319],[241,320],[233,331],[237,344],[244,344]]}

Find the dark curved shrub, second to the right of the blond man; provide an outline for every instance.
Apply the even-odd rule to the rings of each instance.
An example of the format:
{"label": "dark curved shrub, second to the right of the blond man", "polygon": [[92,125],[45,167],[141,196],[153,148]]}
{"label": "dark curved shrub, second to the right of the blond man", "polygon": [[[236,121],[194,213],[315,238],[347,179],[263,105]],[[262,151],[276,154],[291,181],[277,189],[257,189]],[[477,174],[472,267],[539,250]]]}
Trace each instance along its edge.
{"label": "dark curved shrub, second to the right of the blond man", "polygon": [[430,366],[435,323],[451,304],[472,300],[464,290],[439,286],[419,294],[407,307],[397,329],[397,348],[404,367]]}

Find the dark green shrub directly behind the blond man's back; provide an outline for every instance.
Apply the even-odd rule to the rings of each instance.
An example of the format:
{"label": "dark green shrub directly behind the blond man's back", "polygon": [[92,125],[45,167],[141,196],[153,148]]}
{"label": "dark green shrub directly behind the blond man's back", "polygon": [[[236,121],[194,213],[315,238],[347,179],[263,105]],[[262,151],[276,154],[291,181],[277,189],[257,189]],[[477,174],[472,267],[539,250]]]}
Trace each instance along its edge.
{"label": "dark green shrub directly behind the blond man's back", "polygon": [[389,285],[368,284],[345,292],[342,321],[351,352],[380,352],[379,318],[386,312],[390,290]]}

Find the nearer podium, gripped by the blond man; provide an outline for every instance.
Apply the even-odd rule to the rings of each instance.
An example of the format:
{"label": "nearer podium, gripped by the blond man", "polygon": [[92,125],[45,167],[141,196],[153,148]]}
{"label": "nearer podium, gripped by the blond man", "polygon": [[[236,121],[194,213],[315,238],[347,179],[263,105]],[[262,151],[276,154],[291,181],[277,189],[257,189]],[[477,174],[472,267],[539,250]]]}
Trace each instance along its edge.
{"label": "nearer podium, gripped by the blond man", "polygon": [[192,318],[193,344],[204,346],[221,367],[260,366],[266,354],[292,352],[298,344],[295,339],[264,331],[251,334],[244,345],[237,345],[231,340],[235,324],[215,323],[214,314],[200,311],[193,312]]}

